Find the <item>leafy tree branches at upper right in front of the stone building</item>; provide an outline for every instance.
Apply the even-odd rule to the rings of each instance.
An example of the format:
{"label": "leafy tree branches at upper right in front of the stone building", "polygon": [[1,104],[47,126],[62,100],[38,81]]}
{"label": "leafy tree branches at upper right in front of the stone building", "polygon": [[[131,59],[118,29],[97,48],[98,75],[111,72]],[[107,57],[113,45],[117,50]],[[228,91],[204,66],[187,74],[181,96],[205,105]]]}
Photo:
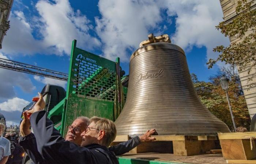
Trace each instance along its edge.
{"label": "leafy tree branches at upper right in front of the stone building", "polygon": [[[238,71],[248,69],[248,74],[256,67],[256,9],[251,9],[253,1],[239,0],[232,23],[219,23],[216,28],[225,36],[240,38],[241,42],[232,43],[225,47],[217,46],[214,52],[221,53],[217,59],[209,59],[207,65],[211,68],[221,61],[232,66],[238,66]],[[249,34],[249,35],[248,35]],[[250,79],[249,79],[250,80]]]}

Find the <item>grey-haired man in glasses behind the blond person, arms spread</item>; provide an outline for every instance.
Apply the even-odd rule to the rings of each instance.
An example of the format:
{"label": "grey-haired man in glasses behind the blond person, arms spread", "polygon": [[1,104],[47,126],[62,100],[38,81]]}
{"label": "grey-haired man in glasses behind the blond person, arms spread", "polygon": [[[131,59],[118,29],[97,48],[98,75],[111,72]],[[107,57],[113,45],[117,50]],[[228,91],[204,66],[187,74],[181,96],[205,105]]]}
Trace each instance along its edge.
{"label": "grey-haired man in glasses behind the blond person, arms spread", "polygon": [[[41,106],[42,108],[44,106]],[[24,113],[26,114],[26,113]],[[26,153],[29,155],[29,157],[34,161],[34,163],[45,163],[44,159],[40,155],[40,153],[37,151],[37,143],[35,140],[35,136],[33,133],[30,133],[29,126],[24,126],[24,122],[26,125],[30,125],[30,122],[25,115],[23,115],[24,120],[22,121],[22,124],[20,126],[21,134],[23,137],[20,137],[20,145],[23,146]],[[97,117],[96,117],[97,118]],[[91,118],[93,120],[93,118]],[[94,119],[94,121],[91,122],[97,122],[98,119]],[[80,145],[82,142],[82,137],[80,134],[85,130],[87,125],[89,124],[89,120],[87,117],[78,117],[76,120],[68,126],[68,133],[66,136],[66,140],[70,142],[74,142],[77,145]],[[90,127],[89,127],[90,128]],[[87,129],[88,132],[89,129]],[[25,136],[27,133],[28,135]],[[154,129],[148,130],[145,134],[134,137],[131,140],[127,142],[123,142],[121,144],[109,147],[109,151],[113,151],[116,155],[121,155],[123,153],[129,152],[131,149],[135,148],[137,145],[140,144],[140,141],[152,141],[155,140],[154,137],[151,137],[151,135],[155,133]]]}

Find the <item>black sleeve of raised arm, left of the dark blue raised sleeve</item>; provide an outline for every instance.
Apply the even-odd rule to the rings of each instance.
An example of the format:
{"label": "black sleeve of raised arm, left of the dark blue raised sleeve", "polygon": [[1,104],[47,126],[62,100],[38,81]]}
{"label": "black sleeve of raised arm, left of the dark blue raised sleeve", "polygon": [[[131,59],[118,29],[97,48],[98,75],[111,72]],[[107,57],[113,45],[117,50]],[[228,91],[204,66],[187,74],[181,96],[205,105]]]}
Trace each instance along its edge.
{"label": "black sleeve of raised arm, left of the dark blue raised sleeve", "polygon": [[37,151],[37,142],[33,133],[20,137],[19,144],[35,164],[43,164],[42,156]]}

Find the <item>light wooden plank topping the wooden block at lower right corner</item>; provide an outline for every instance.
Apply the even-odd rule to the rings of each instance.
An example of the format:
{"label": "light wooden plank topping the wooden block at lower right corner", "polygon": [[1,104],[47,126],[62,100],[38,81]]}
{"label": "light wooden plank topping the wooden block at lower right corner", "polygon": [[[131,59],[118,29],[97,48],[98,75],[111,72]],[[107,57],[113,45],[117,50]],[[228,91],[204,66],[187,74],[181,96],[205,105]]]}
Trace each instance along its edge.
{"label": "light wooden plank topping the wooden block at lower right corner", "polygon": [[219,140],[256,138],[256,132],[218,133]]}

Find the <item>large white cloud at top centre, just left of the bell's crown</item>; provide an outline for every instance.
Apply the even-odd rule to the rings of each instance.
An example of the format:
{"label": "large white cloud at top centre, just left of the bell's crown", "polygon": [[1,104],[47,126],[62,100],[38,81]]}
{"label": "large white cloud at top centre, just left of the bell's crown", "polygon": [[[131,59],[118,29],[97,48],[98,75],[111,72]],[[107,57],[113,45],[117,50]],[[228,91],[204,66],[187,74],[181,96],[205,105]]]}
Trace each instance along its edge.
{"label": "large white cloud at top centre, just left of the bell's crown", "polygon": [[103,56],[129,61],[127,49],[134,50],[147,39],[148,28],[156,28],[162,20],[160,8],[153,1],[99,0],[102,18],[95,18],[98,36],[104,43]]}

